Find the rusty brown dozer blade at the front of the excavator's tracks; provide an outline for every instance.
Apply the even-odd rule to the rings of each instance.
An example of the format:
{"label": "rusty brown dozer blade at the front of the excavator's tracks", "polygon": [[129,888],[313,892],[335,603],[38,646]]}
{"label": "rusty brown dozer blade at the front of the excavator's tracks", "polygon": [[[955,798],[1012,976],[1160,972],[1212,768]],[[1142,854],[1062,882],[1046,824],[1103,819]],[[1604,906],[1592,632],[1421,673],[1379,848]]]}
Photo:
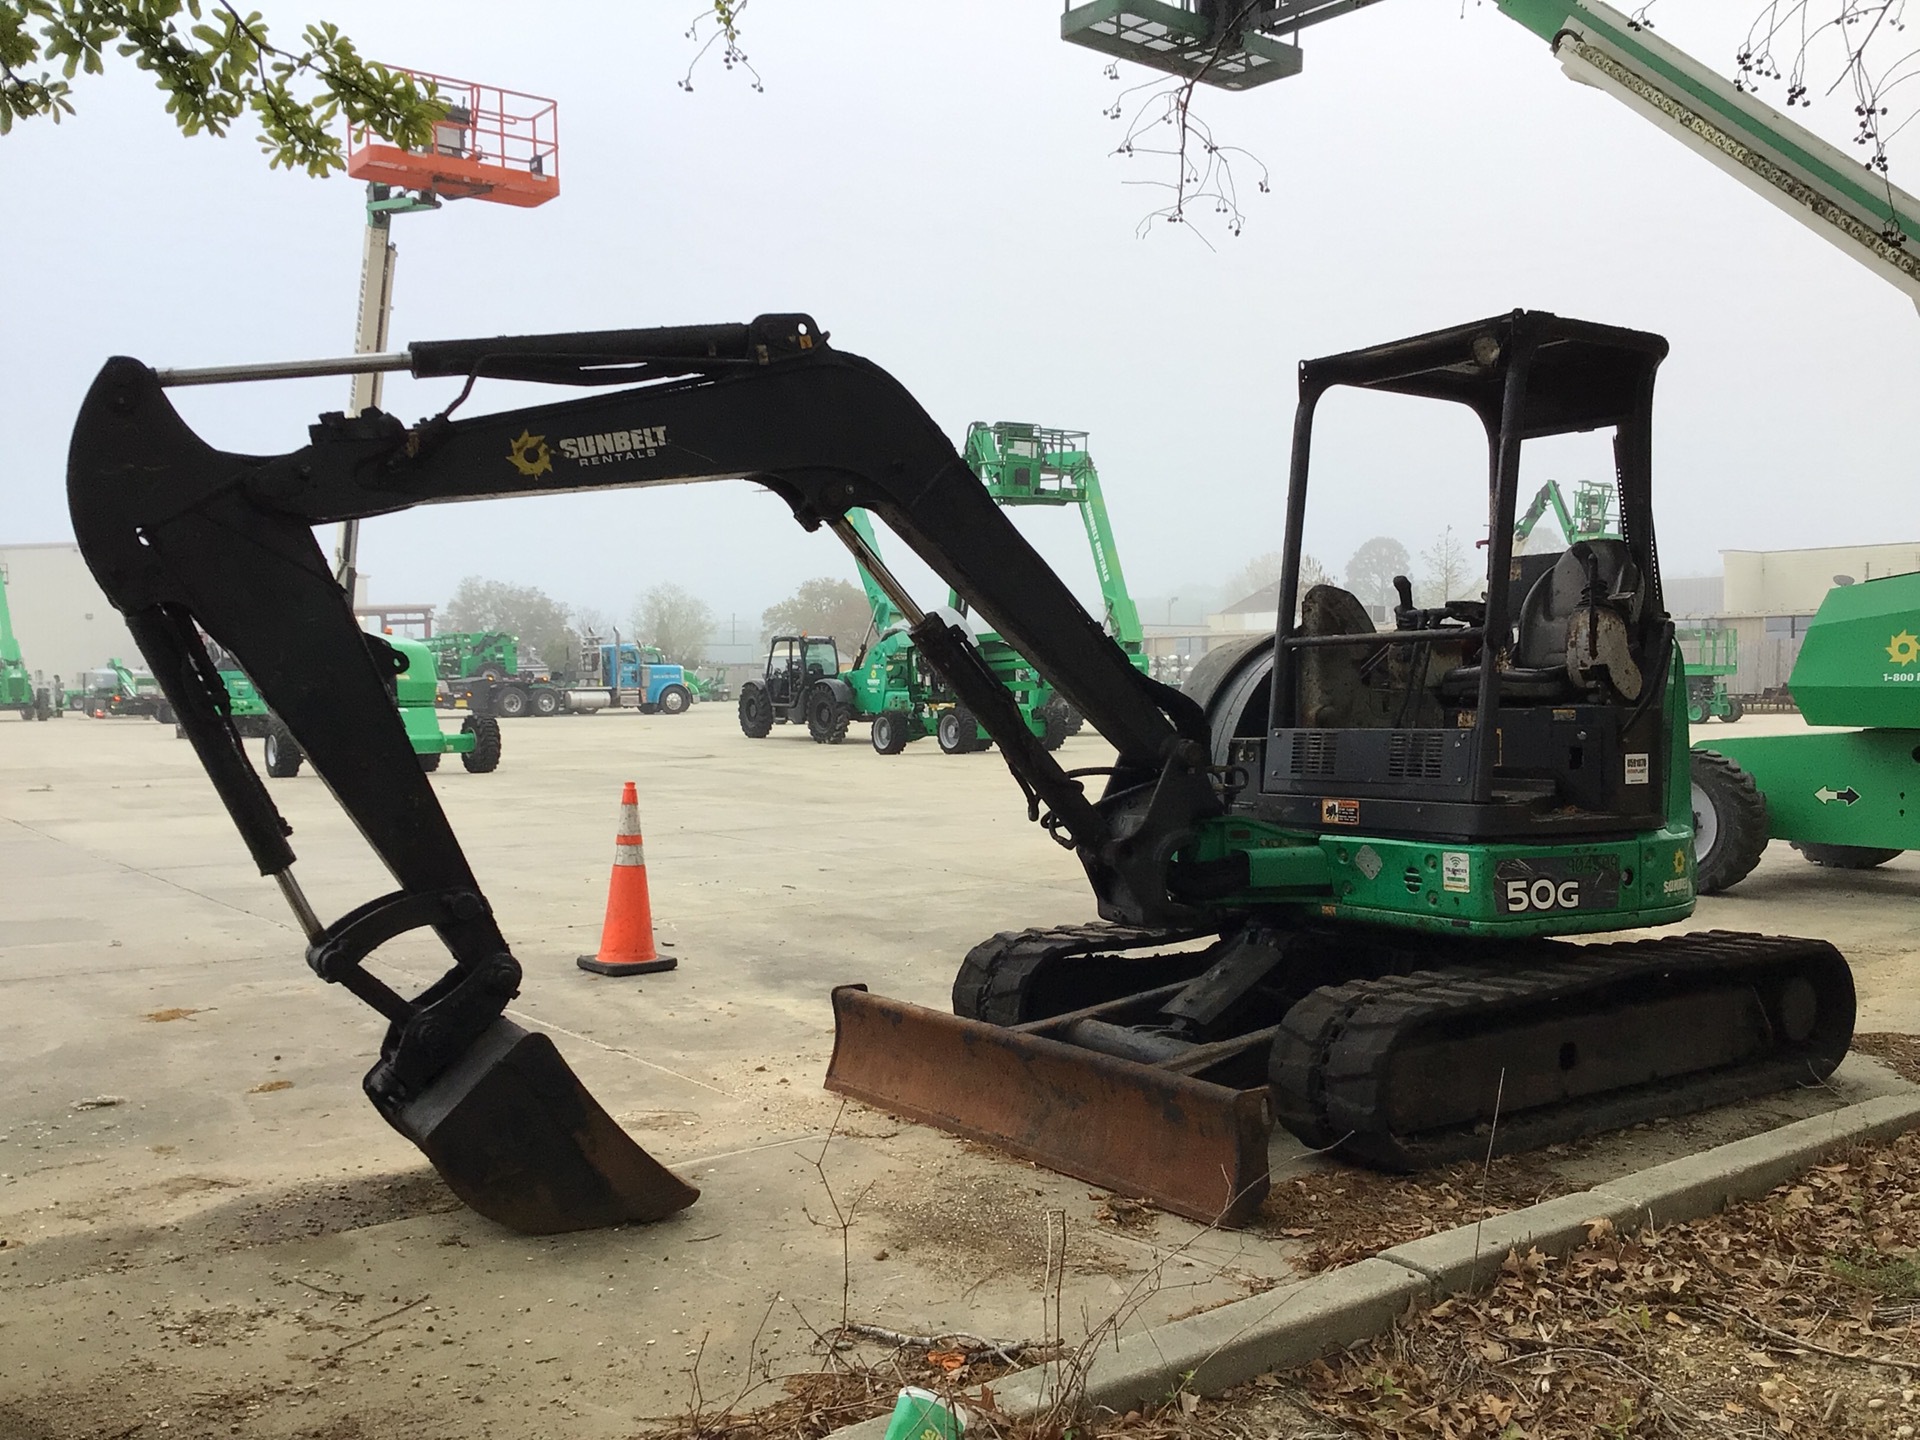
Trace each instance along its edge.
{"label": "rusty brown dozer blade at the front of the excavator's tracks", "polygon": [[1267,1196],[1265,1087],[1235,1091],[904,1000],[833,991],[828,1089],[1206,1225]]}

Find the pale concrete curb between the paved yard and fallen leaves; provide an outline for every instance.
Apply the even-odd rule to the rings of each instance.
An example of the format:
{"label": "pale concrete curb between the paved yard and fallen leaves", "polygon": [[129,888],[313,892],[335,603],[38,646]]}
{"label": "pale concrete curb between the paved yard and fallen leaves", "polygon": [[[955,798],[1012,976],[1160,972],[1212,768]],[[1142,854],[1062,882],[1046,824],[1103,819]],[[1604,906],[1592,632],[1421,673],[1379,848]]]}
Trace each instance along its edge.
{"label": "pale concrete curb between the paved yard and fallen leaves", "polygon": [[[1622,1175],[1580,1194],[1461,1225],[1382,1250],[1371,1260],[1169,1321],[1104,1346],[1087,1365],[1085,1398],[1116,1413],[1165,1402],[1175,1390],[1219,1394],[1265,1371],[1290,1369],[1342,1346],[1371,1340],[1413,1300],[1438,1300],[1484,1284],[1509,1250],[1565,1254],[1588,1225],[1672,1225],[1753,1200],[1801,1175],[1834,1150],[1885,1140],[1920,1125],[1920,1091],[1799,1119],[1747,1140]],[[1048,1367],[995,1380],[1002,1413],[1027,1415],[1052,1396]],[[828,1440],[883,1440],[887,1417],[835,1430]]]}

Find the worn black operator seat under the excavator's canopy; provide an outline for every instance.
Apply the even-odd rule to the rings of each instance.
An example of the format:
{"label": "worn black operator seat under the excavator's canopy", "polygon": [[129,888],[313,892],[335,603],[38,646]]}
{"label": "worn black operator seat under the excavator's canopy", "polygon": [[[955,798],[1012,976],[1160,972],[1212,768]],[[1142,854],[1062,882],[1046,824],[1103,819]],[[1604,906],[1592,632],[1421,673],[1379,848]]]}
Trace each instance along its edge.
{"label": "worn black operator seat under the excavator's canopy", "polygon": [[[1642,674],[1630,634],[1644,599],[1640,566],[1624,540],[1569,545],[1521,601],[1513,664],[1500,672],[1501,699],[1571,699],[1588,689],[1597,672],[1605,672],[1620,695],[1638,699]],[[1440,693],[1471,703],[1480,693],[1480,666],[1448,670]]]}

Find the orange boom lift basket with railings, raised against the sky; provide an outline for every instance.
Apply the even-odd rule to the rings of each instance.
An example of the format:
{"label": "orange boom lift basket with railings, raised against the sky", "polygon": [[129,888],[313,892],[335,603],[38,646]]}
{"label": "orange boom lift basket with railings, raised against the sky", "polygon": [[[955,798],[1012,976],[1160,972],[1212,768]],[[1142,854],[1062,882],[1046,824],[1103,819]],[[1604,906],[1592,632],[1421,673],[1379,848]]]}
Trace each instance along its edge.
{"label": "orange boom lift basket with railings, raised against the sky", "polygon": [[445,200],[543,205],[561,192],[561,108],[497,84],[392,65],[445,106],[424,150],[401,150],[371,131],[348,131],[348,175]]}

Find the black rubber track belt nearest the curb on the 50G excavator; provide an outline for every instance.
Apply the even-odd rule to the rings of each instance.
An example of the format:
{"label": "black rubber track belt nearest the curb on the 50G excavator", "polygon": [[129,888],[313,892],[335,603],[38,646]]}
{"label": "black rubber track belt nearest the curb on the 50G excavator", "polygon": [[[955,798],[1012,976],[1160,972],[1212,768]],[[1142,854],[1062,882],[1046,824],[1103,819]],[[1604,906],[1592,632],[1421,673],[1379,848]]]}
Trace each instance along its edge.
{"label": "black rubber track belt nearest the curb on the 50G excavator", "polygon": [[1507,1154],[1619,1129],[1661,1116],[1766,1094],[1832,1073],[1853,1035],[1853,981],[1826,941],[1707,931],[1615,945],[1542,943],[1513,956],[1515,968],[1453,966],[1384,979],[1329,985],[1296,1004],[1275,1039],[1271,1081],[1275,1117],[1313,1148],[1380,1169],[1423,1169],[1486,1156],[1484,1125],[1392,1135],[1379,1125],[1390,1110],[1390,1066],[1398,1046],[1436,1027],[1480,1033],[1503,1012],[1538,1016],[1546,1002],[1578,1004],[1619,993],[1622,1033],[1634,1027],[1632,993],[1668,977],[1740,983],[1741,972],[1814,979],[1820,1020],[1801,1044],[1749,1064],[1649,1081],[1597,1096],[1501,1117],[1492,1150]]}

